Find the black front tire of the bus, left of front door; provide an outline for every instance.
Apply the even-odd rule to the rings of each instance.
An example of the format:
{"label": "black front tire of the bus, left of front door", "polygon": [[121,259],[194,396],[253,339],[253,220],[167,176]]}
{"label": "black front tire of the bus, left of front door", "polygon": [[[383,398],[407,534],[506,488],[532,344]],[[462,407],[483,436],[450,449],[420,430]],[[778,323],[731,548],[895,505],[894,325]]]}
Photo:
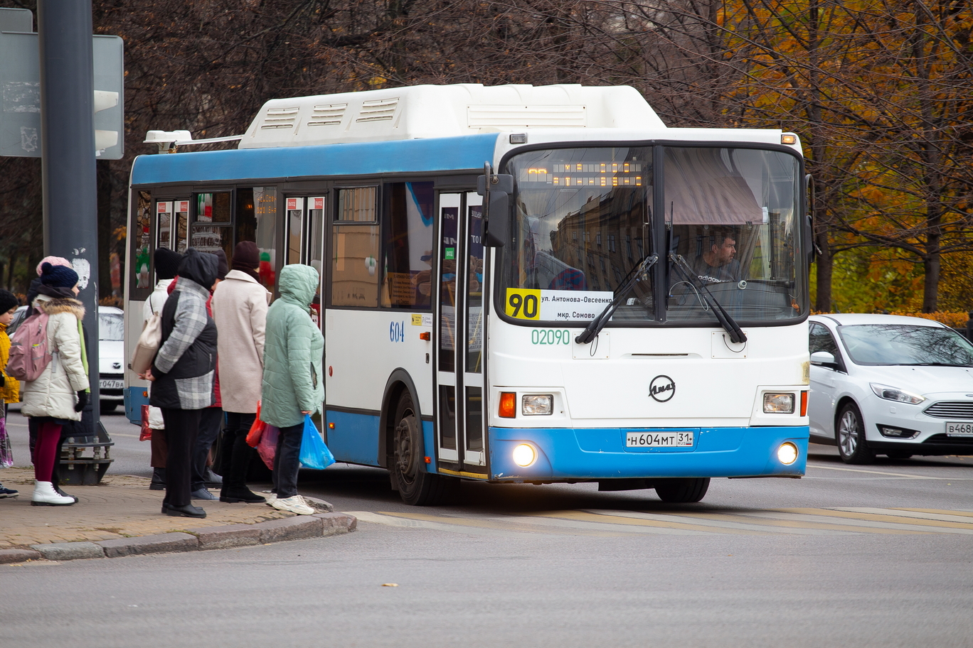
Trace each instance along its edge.
{"label": "black front tire of the bus, left of front door", "polygon": [[425,471],[422,427],[408,391],[402,392],[399,397],[394,421],[396,423],[390,467],[399,496],[402,501],[413,506],[436,506],[442,503],[452,493],[456,480]]}

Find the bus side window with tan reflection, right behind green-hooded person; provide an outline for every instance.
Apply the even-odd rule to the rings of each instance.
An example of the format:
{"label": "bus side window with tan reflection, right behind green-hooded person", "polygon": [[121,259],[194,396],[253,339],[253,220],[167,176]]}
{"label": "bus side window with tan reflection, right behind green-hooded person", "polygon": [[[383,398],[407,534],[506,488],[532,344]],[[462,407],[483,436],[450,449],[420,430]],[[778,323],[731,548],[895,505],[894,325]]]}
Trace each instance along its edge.
{"label": "bus side window with tan reflection, right behind green-hooded person", "polygon": [[338,190],[331,244],[332,306],[378,306],[377,195],[375,187]]}

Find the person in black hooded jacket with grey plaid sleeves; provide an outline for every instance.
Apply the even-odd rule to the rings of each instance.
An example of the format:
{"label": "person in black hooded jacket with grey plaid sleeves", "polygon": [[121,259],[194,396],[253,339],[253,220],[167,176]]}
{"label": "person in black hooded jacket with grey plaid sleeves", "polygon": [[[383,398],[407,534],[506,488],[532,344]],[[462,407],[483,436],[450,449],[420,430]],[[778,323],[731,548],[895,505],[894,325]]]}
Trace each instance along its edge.
{"label": "person in black hooded jacket with grey plaid sleeves", "polygon": [[162,513],[204,518],[191,503],[192,451],[201,410],[213,404],[216,324],[206,313],[216,282],[216,256],[186,251],[179,283],[162,308],[162,345],[144,378],[152,381],[151,404],[162,410],[168,440]]}

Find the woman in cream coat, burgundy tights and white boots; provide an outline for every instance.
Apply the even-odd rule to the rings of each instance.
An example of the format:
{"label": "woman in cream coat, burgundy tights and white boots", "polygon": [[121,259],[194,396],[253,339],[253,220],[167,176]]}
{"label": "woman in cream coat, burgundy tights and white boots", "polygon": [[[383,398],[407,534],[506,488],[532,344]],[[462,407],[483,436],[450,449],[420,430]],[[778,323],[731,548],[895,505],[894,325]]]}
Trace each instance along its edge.
{"label": "woman in cream coat, burgundy tights and white boots", "polygon": [[51,482],[61,426],[81,421],[88,402],[88,371],[81,321],[85,307],[78,294],[78,274],[45,263],[34,308],[48,315],[48,352],[52,359],[37,380],[23,383],[20,412],[39,424],[34,451],[34,506],[70,506],[74,497],[58,495]]}

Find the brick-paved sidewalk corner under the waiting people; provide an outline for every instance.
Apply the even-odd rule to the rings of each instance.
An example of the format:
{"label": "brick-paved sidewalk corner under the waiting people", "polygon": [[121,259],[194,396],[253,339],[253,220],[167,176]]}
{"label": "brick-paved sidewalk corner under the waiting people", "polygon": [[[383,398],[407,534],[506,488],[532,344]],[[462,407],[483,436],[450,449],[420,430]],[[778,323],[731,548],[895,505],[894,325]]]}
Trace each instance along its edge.
{"label": "brick-paved sidewalk corner under the waiting people", "polygon": [[[244,537],[247,541],[226,544],[225,546],[239,546],[240,544],[257,544],[258,540],[268,539],[266,529],[277,529],[282,523],[271,523],[286,518],[302,518],[307,523],[315,518],[315,524],[321,527],[318,516],[295,516],[292,513],[285,513],[270,508],[266,504],[230,504],[221,501],[194,500],[194,504],[202,506],[206,510],[206,517],[198,520],[194,518],[176,518],[162,515],[162,491],[150,491],[149,479],[145,477],[135,477],[132,475],[107,474],[98,486],[67,486],[64,490],[70,495],[78,497],[79,501],[73,506],[31,506],[30,497],[34,490],[34,478],[32,468],[5,468],[0,470],[0,480],[7,488],[17,489],[20,494],[18,497],[7,497],[0,499],[0,563],[12,562],[18,556],[29,557],[27,554],[11,550],[28,550],[33,547],[32,553],[40,551],[41,545],[59,543],[99,543],[98,546],[117,546],[124,544],[133,545],[126,542],[127,538],[139,538],[145,536],[159,537],[160,534],[173,534],[169,539],[176,537],[175,534],[182,536],[188,533],[190,536],[202,538],[206,533],[212,535],[216,529],[229,529],[226,532],[212,535],[212,538],[230,537],[230,533],[235,529],[235,536]],[[310,500],[309,503],[322,513],[328,514],[332,507],[322,500]],[[355,521],[352,516],[342,516],[341,514],[330,513],[326,516],[324,527],[332,532],[346,532],[355,528]],[[295,527],[301,522],[296,520],[294,524],[284,525],[285,527]],[[246,529],[244,526],[254,526]],[[230,529],[233,528],[233,529]],[[204,529],[200,535],[200,529]],[[264,529],[263,536],[257,531]],[[325,529],[327,530],[327,529]],[[250,532],[244,532],[250,531]],[[230,535],[228,535],[230,533]],[[316,535],[330,535],[331,532],[317,532]],[[304,535],[304,537],[313,537]],[[206,535],[206,537],[210,537]],[[148,540],[148,538],[146,538]],[[292,539],[290,537],[272,537],[272,539]],[[252,541],[250,541],[252,540]],[[114,541],[105,542],[102,541]],[[200,544],[201,543],[201,544]],[[171,544],[171,543],[170,543]],[[186,544],[185,542],[183,543]],[[194,544],[190,542],[189,544]],[[211,546],[202,546],[206,542],[199,540],[192,549],[198,548],[217,548],[219,543],[210,542]],[[78,544],[77,546],[81,546]],[[189,547],[186,547],[189,548]],[[160,546],[156,551],[185,551],[186,548],[165,549]],[[41,554],[48,555],[54,553],[41,551]],[[144,551],[129,551],[128,553],[149,553]],[[106,555],[108,552],[106,551]],[[4,557],[7,557],[6,559]],[[76,556],[81,558],[82,556]],[[86,556],[88,557],[88,556]],[[109,556],[111,557],[111,556]],[[64,558],[67,558],[65,556]]]}

